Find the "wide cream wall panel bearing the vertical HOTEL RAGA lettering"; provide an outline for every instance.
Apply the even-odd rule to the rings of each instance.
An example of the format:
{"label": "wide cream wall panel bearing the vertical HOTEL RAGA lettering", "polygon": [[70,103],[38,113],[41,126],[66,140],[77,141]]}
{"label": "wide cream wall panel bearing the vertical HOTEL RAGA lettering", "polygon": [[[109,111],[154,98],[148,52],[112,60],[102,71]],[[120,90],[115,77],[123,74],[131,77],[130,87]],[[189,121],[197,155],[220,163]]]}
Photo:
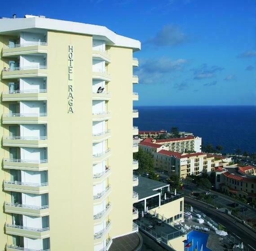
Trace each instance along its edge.
{"label": "wide cream wall panel bearing the vertical HOTEL RAGA lettering", "polygon": [[[74,114],[67,113],[68,45],[74,47]],[[93,250],[92,37],[48,32],[51,250]]]}

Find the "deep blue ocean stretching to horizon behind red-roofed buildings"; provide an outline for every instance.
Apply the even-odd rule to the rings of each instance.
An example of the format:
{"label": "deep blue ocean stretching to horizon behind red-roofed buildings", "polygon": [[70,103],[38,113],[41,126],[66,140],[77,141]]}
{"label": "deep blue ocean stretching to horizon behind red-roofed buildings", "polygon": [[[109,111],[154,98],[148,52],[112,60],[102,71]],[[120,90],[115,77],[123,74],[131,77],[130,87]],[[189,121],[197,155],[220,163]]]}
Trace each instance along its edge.
{"label": "deep blue ocean stretching to horizon behind red-roofed buildings", "polygon": [[223,152],[240,148],[242,153],[256,152],[256,106],[138,106],[139,118],[133,125],[139,130],[192,132],[203,144],[222,145]]}

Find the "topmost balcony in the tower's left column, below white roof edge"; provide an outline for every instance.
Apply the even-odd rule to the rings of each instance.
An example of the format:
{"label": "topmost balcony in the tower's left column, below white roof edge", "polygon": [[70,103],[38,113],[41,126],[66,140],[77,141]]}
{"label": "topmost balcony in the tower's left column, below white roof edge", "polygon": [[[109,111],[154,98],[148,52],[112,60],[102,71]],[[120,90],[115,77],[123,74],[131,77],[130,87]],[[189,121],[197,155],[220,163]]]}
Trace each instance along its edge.
{"label": "topmost balcony in the tower's left column, below white roof edge", "polygon": [[47,43],[33,42],[8,45],[3,48],[2,56],[29,55],[32,53],[47,53]]}

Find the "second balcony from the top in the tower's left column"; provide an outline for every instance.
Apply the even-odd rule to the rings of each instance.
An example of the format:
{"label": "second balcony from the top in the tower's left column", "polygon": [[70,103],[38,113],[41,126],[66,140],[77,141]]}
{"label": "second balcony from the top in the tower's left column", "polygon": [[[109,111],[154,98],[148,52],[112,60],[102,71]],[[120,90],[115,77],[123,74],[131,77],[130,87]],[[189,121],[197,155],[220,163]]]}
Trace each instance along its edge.
{"label": "second balcony from the top in the tower's left column", "polygon": [[36,78],[47,77],[46,65],[34,65],[24,67],[13,67],[11,69],[3,69],[2,78]]}

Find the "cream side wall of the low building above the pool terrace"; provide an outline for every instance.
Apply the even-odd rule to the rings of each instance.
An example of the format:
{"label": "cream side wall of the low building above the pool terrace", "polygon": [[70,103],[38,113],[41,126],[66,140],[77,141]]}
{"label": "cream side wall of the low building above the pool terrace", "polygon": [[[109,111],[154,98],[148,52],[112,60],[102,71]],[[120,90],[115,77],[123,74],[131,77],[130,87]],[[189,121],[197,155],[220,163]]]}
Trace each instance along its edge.
{"label": "cream side wall of the low building above the pool terrace", "polygon": [[[182,205],[183,205],[183,210],[180,211],[180,201],[182,201]],[[160,215],[163,215],[165,218],[171,218],[174,217],[175,215],[179,214],[179,213],[183,213],[184,211],[184,198],[180,198],[180,199],[176,199],[172,202],[166,203],[164,205],[161,205],[158,208],[154,208],[152,209],[153,211],[156,210],[157,213],[159,213]],[[183,217],[180,218],[178,221],[183,220]],[[174,218],[173,218],[174,220]]]}

